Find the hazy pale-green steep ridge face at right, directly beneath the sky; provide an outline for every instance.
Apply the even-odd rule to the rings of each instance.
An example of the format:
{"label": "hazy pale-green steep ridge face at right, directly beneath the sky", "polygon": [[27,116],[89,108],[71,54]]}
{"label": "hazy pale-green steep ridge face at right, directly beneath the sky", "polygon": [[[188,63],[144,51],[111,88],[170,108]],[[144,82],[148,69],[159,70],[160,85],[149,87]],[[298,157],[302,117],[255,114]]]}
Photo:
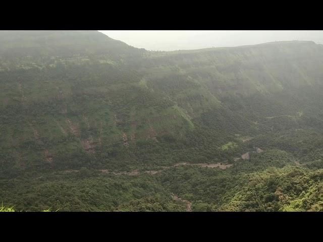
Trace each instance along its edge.
{"label": "hazy pale-green steep ridge face at right, directly beneath the sky", "polygon": [[204,84],[212,94],[247,96],[321,85],[323,46],[311,41],[169,52],[151,57]]}

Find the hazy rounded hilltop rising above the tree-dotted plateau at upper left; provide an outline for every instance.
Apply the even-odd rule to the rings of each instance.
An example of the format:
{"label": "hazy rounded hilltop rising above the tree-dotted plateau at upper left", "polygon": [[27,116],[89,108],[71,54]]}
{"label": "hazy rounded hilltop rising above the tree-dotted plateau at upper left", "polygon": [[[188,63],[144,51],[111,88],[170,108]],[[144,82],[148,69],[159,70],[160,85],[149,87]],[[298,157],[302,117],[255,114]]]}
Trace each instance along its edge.
{"label": "hazy rounded hilltop rising above the tree-dotted plateau at upper left", "polygon": [[0,53],[8,57],[137,52],[138,49],[94,30],[0,31]]}

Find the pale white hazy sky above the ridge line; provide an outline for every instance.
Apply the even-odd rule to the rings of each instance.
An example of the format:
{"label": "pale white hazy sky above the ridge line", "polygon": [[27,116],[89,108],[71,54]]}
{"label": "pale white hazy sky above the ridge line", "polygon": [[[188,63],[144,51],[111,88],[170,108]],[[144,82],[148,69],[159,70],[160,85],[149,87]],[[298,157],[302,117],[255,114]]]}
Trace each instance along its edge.
{"label": "pale white hazy sky above the ridge line", "polygon": [[147,50],[239,46],[279,40],[312,40],[323,44],[323,31],[295,30],[99,30]]}

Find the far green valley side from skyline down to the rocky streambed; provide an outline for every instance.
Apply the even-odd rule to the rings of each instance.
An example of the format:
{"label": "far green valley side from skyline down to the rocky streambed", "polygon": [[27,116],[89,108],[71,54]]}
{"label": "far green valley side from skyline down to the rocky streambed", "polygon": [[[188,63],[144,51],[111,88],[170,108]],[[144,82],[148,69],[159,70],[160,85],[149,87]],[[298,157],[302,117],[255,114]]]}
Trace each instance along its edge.
{"label": "far green valley side from skyline down to the rocky streambed", "polygon": [[154,53],[96,31],[1,35],[4,53],[23,53],[22,41],[40,50],[4,55],[0,73],[2,154],[22,169],[161,165],[194,145],[221,157],[215,147],[259,132],[264,117],[306,112],[286,99],[317,92],[323,76],[323,48],[313,42]]}

